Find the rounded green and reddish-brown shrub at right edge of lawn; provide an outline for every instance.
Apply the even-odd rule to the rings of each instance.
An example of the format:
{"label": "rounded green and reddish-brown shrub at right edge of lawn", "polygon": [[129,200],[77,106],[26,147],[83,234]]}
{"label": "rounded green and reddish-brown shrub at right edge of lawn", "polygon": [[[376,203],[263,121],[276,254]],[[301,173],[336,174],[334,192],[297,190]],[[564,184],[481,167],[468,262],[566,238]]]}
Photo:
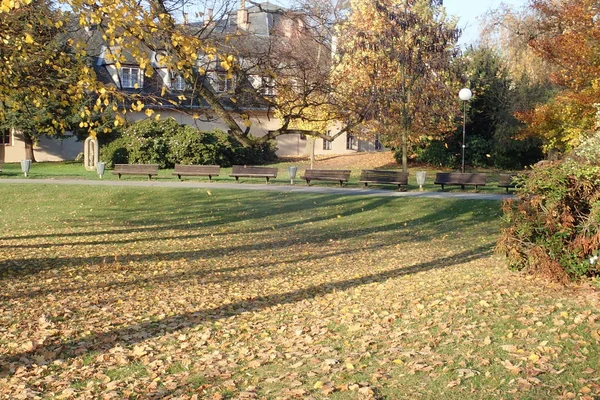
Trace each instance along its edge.
{"label": "rounded green and reddish-brown shrub at right edge of lawn", "polygon": [[600,168],[544,162],[520,178],[518,199],[504,203],[497,249],[511,268],[560,281],[600,272]]}

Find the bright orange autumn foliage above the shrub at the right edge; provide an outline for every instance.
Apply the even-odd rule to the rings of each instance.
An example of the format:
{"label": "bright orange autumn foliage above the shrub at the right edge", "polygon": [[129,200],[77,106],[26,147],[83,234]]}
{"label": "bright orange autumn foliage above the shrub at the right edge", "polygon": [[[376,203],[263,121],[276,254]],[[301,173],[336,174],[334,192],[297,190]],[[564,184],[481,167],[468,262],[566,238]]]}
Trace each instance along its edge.
{"label": "bright orange autumn foliage above the shrub at the right edge", "polygon": [[521,113],[527,133],[548,149],[566,151],[593,130],[600,102],[600,6],[595,0],[534,0],[535,32],[529,46],[552,65],[550,80],[561,90]]}

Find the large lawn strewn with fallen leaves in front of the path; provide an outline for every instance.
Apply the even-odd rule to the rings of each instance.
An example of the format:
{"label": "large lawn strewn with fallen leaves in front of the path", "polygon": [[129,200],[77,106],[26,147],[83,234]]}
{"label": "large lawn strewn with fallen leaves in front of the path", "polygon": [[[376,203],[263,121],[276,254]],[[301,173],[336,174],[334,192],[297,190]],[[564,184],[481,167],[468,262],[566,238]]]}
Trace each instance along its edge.
{"label": "large lawn strewn with fallen leaves in front of the path", "polygon": [[0,195],[0,399],[600,395],[598,293],[509,272],[499,202]]}

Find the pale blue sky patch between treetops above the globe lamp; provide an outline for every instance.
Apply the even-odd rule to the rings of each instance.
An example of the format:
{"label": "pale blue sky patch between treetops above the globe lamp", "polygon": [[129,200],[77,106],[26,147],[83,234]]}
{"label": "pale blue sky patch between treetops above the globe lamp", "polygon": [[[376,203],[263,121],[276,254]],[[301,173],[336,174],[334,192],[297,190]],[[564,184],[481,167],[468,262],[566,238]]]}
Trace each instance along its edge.
{"label": "pale blue sky patch between treetops above the globe lamp", "polygon": [[463,45],[477,41],[481,16],[488,10],[496,9],[501,4],[520,8],[527,3],[527,0],[444,0],[446,12],[459,17],[458,26],[463,29],[459,43]]}

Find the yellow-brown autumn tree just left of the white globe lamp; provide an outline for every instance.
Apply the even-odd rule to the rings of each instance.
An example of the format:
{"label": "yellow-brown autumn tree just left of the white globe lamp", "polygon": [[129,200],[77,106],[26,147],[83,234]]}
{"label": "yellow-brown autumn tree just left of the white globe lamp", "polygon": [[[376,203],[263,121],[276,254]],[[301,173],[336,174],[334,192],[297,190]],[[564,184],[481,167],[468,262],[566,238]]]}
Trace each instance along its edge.
{"label": "yellow-brown autumn tree just left of the white globe lamp", "polygon": [[334,79],[364,129],[402,149],[453,125],[457,81],[451,64],[459,31],[425,0],[354,0],[339,29]]}

